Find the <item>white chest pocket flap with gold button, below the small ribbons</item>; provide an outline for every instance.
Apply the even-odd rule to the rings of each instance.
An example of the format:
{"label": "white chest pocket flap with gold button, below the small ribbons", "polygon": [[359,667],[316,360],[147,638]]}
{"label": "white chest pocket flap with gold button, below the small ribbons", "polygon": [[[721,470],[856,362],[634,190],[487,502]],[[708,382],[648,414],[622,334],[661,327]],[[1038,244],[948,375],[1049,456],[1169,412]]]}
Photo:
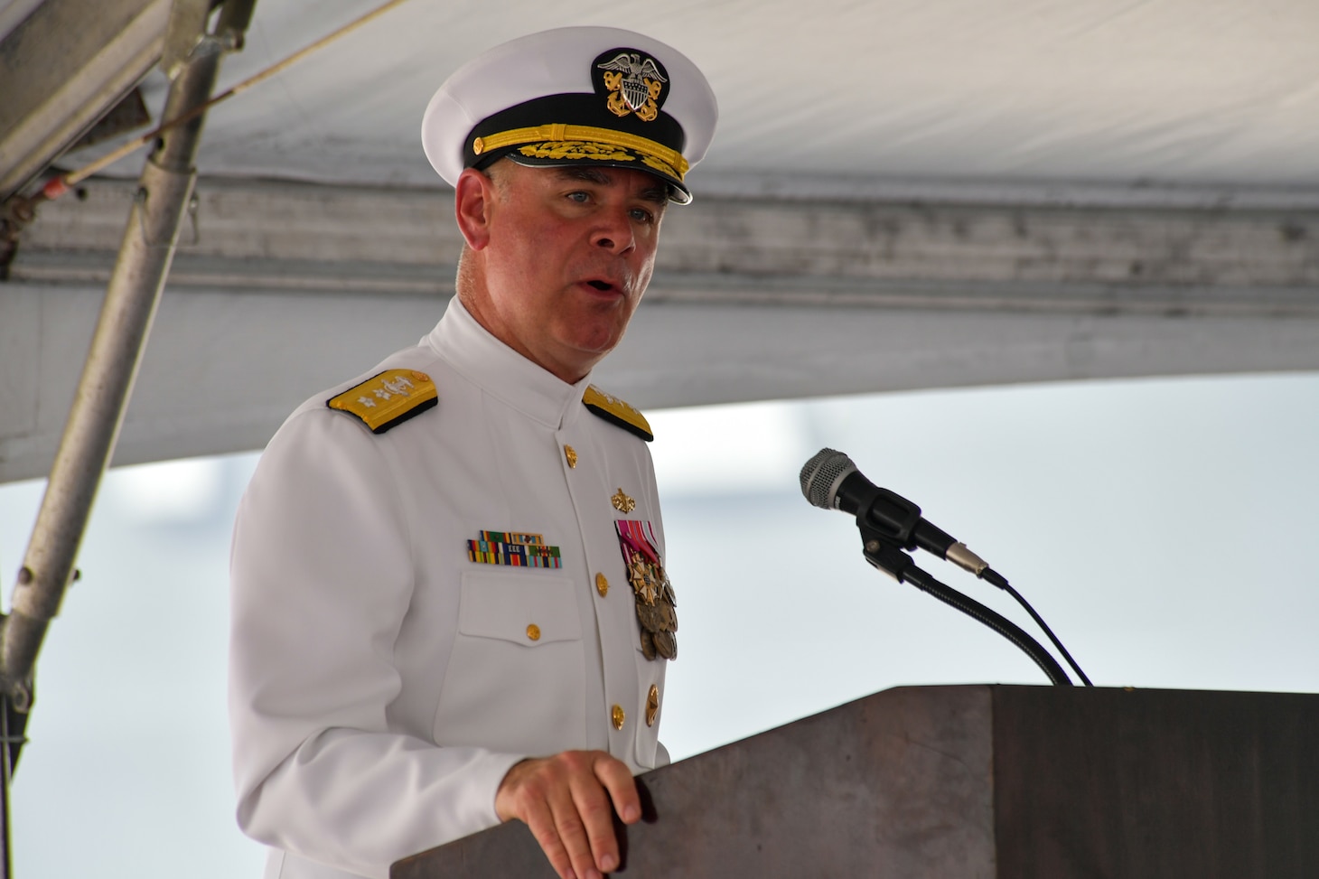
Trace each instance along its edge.
{"label": "white chest pocket flap with gold button, below the small ribbons", "polygon": [[524,647],[582,640],[572,581],[529,573],[467,571],[458,631]]}

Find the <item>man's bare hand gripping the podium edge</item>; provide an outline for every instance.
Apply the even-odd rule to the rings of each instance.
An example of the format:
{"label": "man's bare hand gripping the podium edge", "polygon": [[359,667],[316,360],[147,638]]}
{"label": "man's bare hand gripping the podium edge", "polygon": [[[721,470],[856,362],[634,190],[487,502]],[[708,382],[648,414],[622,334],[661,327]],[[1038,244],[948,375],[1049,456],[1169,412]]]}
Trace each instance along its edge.
{"label": "man's bare hand gripping the podium edge", "polygon": [[600,879],[619,867],[613,810],[624,824],[641,820],[632,772],[604,751],[522,760],[495,795],[500,821],[524,821],[562,879]]}

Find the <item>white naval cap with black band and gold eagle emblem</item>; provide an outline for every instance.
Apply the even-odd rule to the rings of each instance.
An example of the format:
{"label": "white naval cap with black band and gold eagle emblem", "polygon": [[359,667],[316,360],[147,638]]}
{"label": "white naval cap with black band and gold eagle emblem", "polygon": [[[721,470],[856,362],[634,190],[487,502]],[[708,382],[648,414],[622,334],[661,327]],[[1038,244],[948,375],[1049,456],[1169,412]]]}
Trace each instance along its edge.
{"label": "white naval cap with black band and gold eagle emblem", "polygon": [[683,182],[715,136],[719,106],[686,55],[632,30],[558,28],[495,46],[445,81],[426,107],[426,158],[451,186],[464,168],[633,168]]}

